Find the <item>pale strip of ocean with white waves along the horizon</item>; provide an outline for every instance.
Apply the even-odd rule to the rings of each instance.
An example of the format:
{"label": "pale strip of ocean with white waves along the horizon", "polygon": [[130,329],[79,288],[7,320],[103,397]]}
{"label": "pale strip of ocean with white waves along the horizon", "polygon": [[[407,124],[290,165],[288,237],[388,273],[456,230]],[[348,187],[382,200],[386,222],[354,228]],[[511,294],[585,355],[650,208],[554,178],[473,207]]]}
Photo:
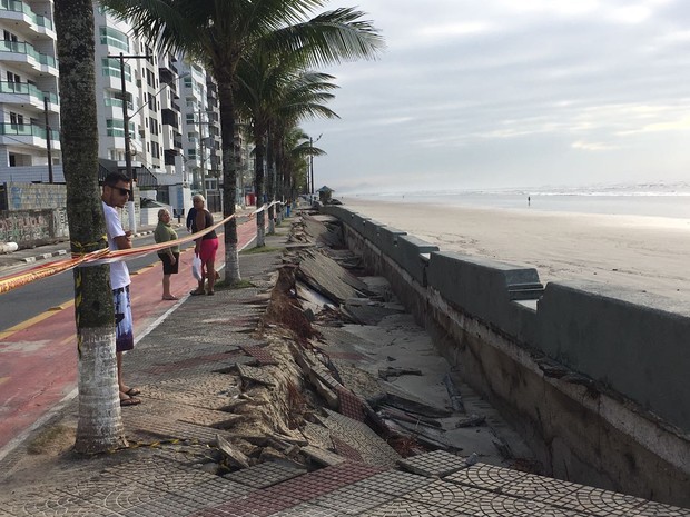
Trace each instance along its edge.
{"label": "pale strip of ocean with white waves along the horizon", "polygon": [[[345,195],[339,199],[450,203],[469,208],[690,219],[690,183],[629,183],[524,189],[444,190]],[[528,202],[529,198],[529,202]]]}

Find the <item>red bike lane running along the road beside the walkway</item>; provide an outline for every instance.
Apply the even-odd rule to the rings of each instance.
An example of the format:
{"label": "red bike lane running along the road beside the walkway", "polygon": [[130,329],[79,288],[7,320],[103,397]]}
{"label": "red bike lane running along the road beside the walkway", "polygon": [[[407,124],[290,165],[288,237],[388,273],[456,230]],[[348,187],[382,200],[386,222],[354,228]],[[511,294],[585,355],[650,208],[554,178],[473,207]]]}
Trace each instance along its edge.
{"label": "red bike lane running along the road beside the walkway", "polygon": [[[256,236],[256,220],[238,225],[241,249]],[[216,264],[225,264],[219,236]],[[193,248],[180,255],[179,274],[171,277],[172,294],[183,297],[197,287],[191,276]],[[141,336],[179,301],[161,300],[161,264],[131,272],[135,337]],[[12,443],[47,417],[77,387],[77,336],[73,300],[0,332],[0,458]],[[127,358],[125,358],[125,376]],[[9,447],[8,447],[9,446]]]}

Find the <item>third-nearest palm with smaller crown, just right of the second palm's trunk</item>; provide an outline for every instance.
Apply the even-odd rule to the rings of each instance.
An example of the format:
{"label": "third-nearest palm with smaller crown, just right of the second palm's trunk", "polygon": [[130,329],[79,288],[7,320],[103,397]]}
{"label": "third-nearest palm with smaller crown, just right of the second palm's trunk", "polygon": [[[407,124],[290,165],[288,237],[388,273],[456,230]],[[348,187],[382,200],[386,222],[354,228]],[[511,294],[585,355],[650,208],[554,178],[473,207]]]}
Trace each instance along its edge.
{"label": "third-nearest palm with smaller crown, just right of the second palm's trunk", "polygon": [[[337,86],[328,82],[334,77],[302,71],[299,54],[293,51],[288,56],[276,56],[256,47],[237,68],[235,98],[238,112],[252,122],[253,128],[257,208],[263,203],[264,193],[269,202],[276,197],[275,158],[285,131],[283,128],[306,117],[337,117],[321,103],[334,97],[329,91]],[[274,230],[274,207],[269,206],[269,231]],[[257,215],[257,247],[264,246],[264,212],[260,211]]]}

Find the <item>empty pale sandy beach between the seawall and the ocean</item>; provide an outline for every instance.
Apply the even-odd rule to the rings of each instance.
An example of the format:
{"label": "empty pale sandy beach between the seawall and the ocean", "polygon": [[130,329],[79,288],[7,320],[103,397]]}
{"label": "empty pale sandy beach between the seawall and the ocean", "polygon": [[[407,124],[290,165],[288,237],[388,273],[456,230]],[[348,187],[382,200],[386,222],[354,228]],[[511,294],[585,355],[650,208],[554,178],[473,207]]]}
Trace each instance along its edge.
{"label": "empty pale sandy beach between the seawall and the ocean", "polygon": [[346,208],[438,246],[690,302],[690,220],[343,199]]}

